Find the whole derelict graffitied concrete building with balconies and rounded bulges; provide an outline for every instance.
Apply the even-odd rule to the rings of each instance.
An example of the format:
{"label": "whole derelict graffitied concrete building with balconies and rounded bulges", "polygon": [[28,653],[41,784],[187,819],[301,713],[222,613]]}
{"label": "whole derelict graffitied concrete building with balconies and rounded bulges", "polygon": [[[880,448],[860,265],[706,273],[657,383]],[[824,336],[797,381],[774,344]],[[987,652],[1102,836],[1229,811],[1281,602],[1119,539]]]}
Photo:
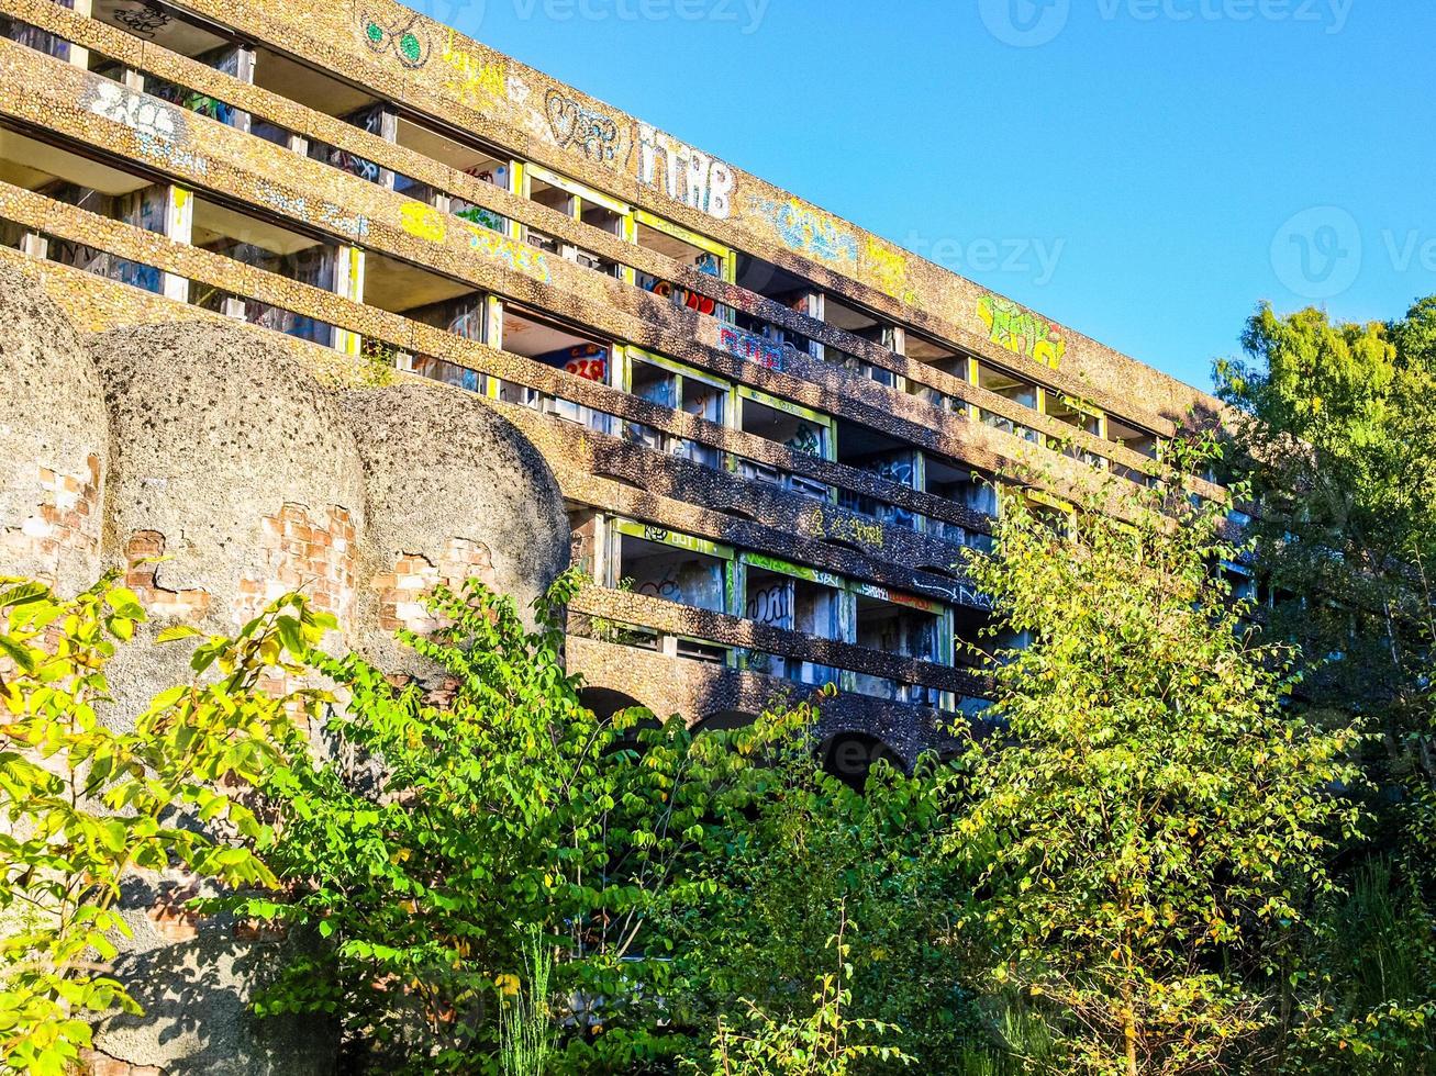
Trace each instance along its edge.
{"label": "whole derelict graffitied concrete building with balconies and rounded bulges", "polygon": [[[600,712],[824,703],[860,780],[976,714],[992,483],[1149,483],[1198,390],[389,0],[0,0],[0,572],[115,567],[228,633],[303,587],[335,647],[572,562]],[[1199,492],[1218,495],[1198,483]],[[155,560],[164,558],[164,560]],[[128,714],[178,650],[115,667]],[[293,940],[136,877],[148,1016],[98,1073],[304,1073],[246,1000]]]}

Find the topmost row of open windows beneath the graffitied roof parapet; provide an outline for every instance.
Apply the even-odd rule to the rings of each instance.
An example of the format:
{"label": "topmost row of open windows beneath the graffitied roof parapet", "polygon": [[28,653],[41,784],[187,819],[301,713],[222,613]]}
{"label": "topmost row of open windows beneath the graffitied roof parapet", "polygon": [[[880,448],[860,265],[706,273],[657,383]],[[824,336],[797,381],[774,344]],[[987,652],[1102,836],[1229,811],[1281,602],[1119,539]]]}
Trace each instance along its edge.
{"label": "topmost row of open windows beneath the graffitied roof parapet", "polygon": [[[96,17],[112,22],[125,30],[134,29],[121,16],[119,9],[102,4],[96,9]],[[70,46],[33,27],[11,24],[6,29],[10,36],[33,47],[43,47],[57,55],[69,53]],[[266,46],[254,49],[241,47],[214,34],[210,29],[192,26],[182,19],[172,19],[164,27],[159,27],[155,34],[151,34],[151,39],[244,82],[253,82],[257,86],[281,93],[307,108],[340,118],[388,142],[438,161],[482,182],[501,187],[518,197],[528,198],[582,225],[589,225],[620,241],[659,253],[699,273],[737,283],[748,291],[764,296],[774,303],[819,321],[824,321],[844,333],[906,354],[958,380],[989,390],[1021,407],[1031,409],[1048,419],[1064,423],[1074,432],[1080,430],[1100,440],[1123,445],[1149,458],[1159,455],[1159,440],[1150,432],[1107,416],[1080,400],[1047,390],[1035,382],[992,366],[959,349],[908,331],[843,298],[821,293],[808,281],[785,270],[760,258],[732,251],[708,237],[698,235],[671,221],[663,221],[610,195],[593,191],[567,176],[521,161],[507,151],[484,146],[477,139],[460,132],[441,132],[418,118],[401,115],[389,102],[363,89],[339,82]],[[112,77],[125,77],[125,72],[118,65],[108,63],[103,57],[90,56],[88,57],[88,63],[92,69],[108,73]],[[847,354],[837,347],[801,337],[761,317],[731,310],[705,296],[691,293],[671,281],[643,274],[599,253],[583,250],[560,237],[508,221],[491,209],[474,205],[457,195],[435,189],[408,176],[398,175],[343,148],[306,139],[270,122],[251,118],[248,113],[234,109],[227,103],[194,93],[162,79],[152,76],[141,77],[146,92],[172,100],[184,108],[243,128],[260,138],[287,145],[313,159],[353,172],[370,182],[424,201],[444,212],[455,214],[471,222],[524,240],[550,254],[615,275],[626,283],[661,294],[675,304],[734,323],[744,333],[751,333],[771,343],[774,346],[773,354],[781,356],[785,349],[791,349],[794,353],[834,363],[883,384],[906,389],[946,410],[964,413],[971,419],[987,422],[1024,439],[1044,443],[1048,448],[1066,452],[1094,466],[1107,466],[1104,456],[1076,446],[1067,439],[1040,433],[1020,420],[1014,420],[1011,415],[995,413],[968,405],[932,386],[908,382],[890,370],[867,363],[857,356]],[[1146,481],[1144,475],[1130,468],[1117,466],[1116,471],[1126,478]]]}

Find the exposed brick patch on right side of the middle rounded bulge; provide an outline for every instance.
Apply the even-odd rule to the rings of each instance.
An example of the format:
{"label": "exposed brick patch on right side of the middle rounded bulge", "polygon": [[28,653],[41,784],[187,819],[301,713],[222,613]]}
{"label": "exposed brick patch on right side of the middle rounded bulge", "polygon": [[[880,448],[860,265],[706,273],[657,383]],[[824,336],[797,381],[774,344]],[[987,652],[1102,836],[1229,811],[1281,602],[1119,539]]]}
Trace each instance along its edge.
{"label": "exposed brick patch on right side of the middle rounded bulge", "polygon": [[306,505],[287,504],[264,518],[264,555],[257,577],[240,582],[236,621],[290,591],[303,591],[314,608],[349,614],[355,594],[355,525],[349,509],[330,505],[310,515]]}

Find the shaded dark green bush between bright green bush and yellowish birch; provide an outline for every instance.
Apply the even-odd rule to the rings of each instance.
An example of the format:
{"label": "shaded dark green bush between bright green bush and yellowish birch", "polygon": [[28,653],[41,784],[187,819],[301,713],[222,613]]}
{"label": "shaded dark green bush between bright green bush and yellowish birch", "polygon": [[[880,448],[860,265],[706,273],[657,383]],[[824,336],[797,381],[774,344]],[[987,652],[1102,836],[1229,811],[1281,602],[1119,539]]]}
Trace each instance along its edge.
{"label": "shaded dark green bush between bright green bush and yellowish birch", "polygon": [[923,762],[909,776],[879,762],[856,792],[819,763],[817,716],[811,704],[780,706],[695,745],[744,780],[705,813],[689,869],[707,884],[662,924],[676,951],[671,1003],[705,1037],[748,1004],[803,1021],[841,931],[847,1009],[892,1026],[926,1069],[949,1070],[982,1030],[956,967],[965,884],[932,855],[948,825],[936,770]]}

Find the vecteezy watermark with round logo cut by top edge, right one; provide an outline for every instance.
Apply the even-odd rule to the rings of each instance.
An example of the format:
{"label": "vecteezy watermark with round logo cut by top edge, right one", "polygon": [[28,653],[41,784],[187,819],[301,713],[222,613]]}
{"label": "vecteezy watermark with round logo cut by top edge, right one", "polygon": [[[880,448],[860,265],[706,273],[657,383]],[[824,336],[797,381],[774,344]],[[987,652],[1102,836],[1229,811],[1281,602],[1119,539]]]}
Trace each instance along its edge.
{"label": "vecteezy watermark with round logo cut by top edge, right one", "polygon": [[[1295,23],[1341,33],[1356,0],[1086,0],[1106,23]],[[979,0],[988,33],[1031,49],[1054,40],[1071,19],[1071,0]]]}

